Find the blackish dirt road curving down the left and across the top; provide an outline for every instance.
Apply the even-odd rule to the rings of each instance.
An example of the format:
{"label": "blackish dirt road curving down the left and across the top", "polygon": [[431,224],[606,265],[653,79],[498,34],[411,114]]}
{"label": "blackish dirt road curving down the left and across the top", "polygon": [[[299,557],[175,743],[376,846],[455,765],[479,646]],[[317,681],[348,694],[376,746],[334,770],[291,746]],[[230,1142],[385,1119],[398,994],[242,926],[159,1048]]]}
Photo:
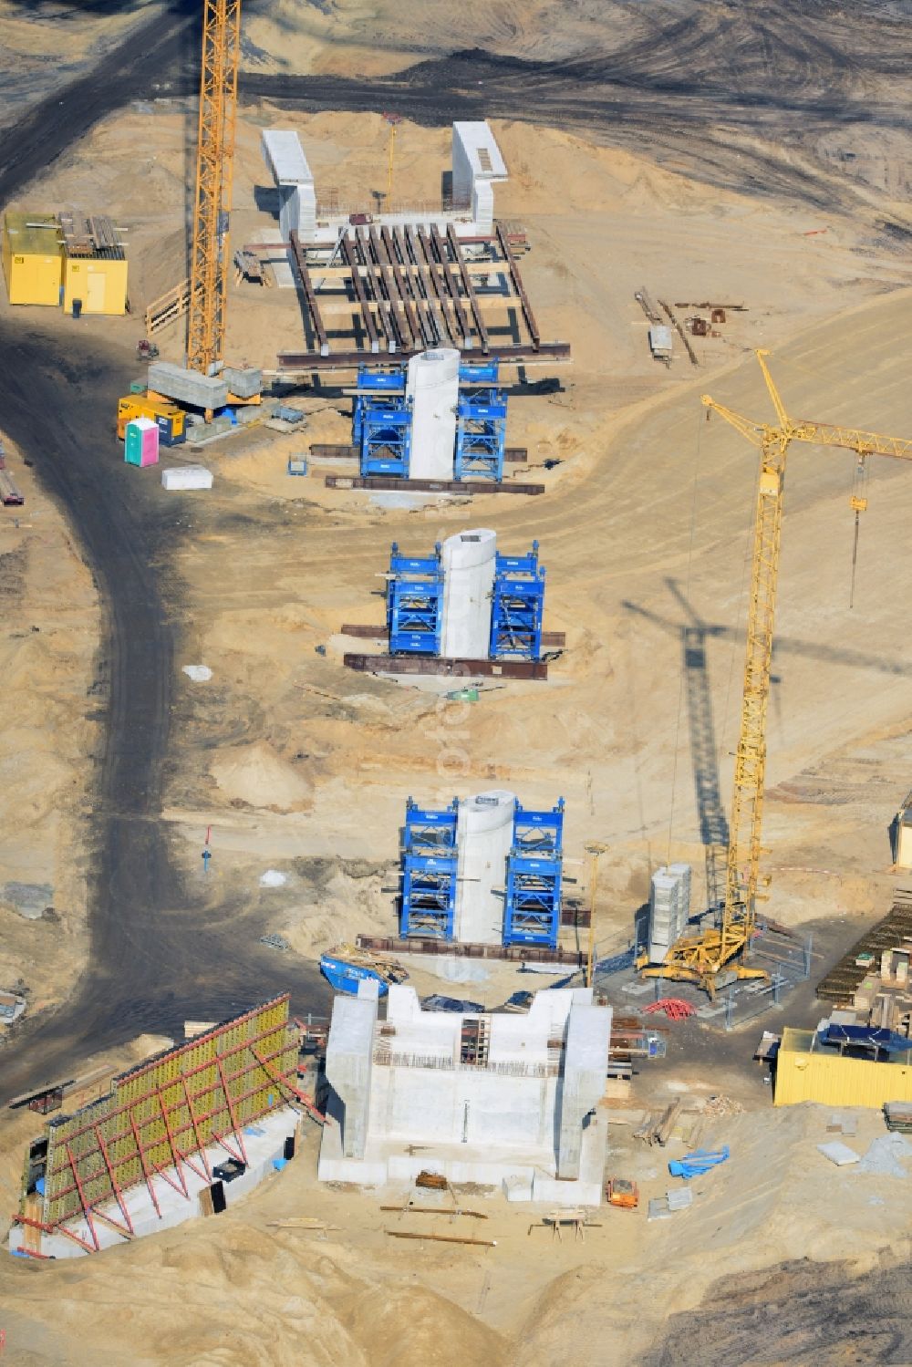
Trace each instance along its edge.
{"label": "blackish dirt road curving down the left and across the top", "polygon": [[[639,8],[637,36],[610,53],[562,63],[440,55],[369,82],[247,72],[241,97],[306,109],[394,108],[425,124],[495,116],[578,128],[648,145],[651,154],[667,153],[710,183],[818,206],[856,198],[826,168],[793,165],[775,150],[777,139],[794,146],[846,122],[909,127],[893,92],[908,63],[905,4],[820,0],[803,7],[797,25],[792,0],[685,3],[655,7],[651,27]],[[194,90],[198,11],[179,0],[164,16],[152,15],[93,72],[3,130],[0,202],[129,101]],[[325,1005],[313,969],[260,949],[256,936],[234,936],[187,905],[170,865],[157,812],[175,626],[155,570],[167,560],[174,514],[146,506],[118,461],[111,414],[131,377],[130,358],[77,335],[78,353],[59,329],[0,320],[0,425],[68,515],[107,623],[107,744],[86,833],[92,954],[75,997],[26,1018],[0,1055],[0,1098],[59,1077],[89,1051],[139,1031],[175,1029],[185,1016],[224,1016],[286,987],[298,1010]]]}

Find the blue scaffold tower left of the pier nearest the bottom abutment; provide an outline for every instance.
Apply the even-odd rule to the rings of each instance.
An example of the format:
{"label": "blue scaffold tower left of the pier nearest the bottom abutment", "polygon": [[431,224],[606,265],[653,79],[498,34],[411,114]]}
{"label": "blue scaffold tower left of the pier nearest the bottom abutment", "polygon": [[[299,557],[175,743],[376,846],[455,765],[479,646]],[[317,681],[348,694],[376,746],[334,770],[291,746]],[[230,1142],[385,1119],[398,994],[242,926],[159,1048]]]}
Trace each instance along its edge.
{"label": "blue scaffold tower left of the pier nearest the bottom abutment", "polygon": [[453,798],[440,811],[406,802],[399,934],[453,939],[457,891],[457,817]]}

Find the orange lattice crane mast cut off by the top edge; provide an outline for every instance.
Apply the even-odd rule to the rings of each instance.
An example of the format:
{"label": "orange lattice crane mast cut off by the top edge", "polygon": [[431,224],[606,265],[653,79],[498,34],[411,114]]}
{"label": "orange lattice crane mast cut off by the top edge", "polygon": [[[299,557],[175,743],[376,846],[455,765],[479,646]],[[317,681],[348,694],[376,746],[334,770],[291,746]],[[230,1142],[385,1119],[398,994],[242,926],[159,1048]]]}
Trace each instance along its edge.
{"label": "orange lattice crane mast cut off by the top edge", "polygon": [[241,60],[241,0],[204,0],[197,193],[187,366],[212,375],[224,357],[228,216]]}

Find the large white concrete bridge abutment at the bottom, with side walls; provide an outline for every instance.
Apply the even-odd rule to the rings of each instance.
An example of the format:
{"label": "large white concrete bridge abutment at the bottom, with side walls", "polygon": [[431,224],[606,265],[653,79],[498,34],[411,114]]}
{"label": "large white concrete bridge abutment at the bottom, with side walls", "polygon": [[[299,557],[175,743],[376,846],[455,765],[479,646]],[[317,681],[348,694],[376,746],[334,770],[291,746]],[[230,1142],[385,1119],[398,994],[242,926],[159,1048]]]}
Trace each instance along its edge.
{"label": "large white concrete bridge abutment at the bottom, with side walls", "polygon": [[[528,1016],[425,1012],[414,988],[399,984],[386,1001],[386,1021],[369,1039],[362,1028],[358,1042],[349,1014],[334,1010],[328,1111],[339,1124],[323,1131],[321,1181],[412,1181],[425,1167],[450,1181],[502,1184],[510,1200],[600,1203],[607,1126],[591,1111],[604,1089],[611,1009],[593,1006],[591,988],[540,991]],[[351,1083],[358,1051],[371,1084],[366,1143],[353,1158],[350,1103],[330,1059],[349,1059],[343,1087],[361,1109],[364,1088]]]}

